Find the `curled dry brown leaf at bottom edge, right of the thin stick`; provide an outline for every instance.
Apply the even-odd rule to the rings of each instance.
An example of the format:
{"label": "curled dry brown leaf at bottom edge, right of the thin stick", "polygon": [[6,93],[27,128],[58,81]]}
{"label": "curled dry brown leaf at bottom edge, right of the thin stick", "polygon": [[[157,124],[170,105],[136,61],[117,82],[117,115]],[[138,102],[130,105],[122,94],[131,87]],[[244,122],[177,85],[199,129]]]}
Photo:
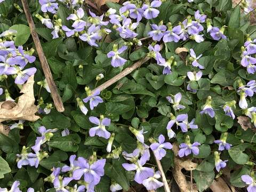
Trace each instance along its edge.
{"label": "curled dry brown leaf at bottom edge, right of the thin stick", "polygon": [[[180,159],[178,157],[178,145],[177,143],[173,144],[173,152],[174,152],[174,169],[173,169],[173,177],[177,182],[181,192],[191,191],[190,182],[186,180],[186,176],[182,173],[182,169],[187,171],[195,170],[197,167],[196,163],[193,163],[191,159]],[[196,186],[193,186],[193,190],[191,192],[197,192]]]}

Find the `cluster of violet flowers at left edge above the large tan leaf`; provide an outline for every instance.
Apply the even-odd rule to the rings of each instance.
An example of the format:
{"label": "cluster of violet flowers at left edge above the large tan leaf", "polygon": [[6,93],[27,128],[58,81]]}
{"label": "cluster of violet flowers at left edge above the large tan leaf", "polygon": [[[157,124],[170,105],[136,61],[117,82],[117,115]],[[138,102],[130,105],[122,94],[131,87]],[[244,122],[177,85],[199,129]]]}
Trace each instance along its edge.
{"label": "cluster of violet flowers at left edge above the large tan leaf", "polygon": [[[0,79],[4,81],[8,75],[15,78],[17,85],[24,84],[31,75],[36,73],[36,68],[25,69],[28,63],[36,60],[32,54],[34,49],[23,50],[22,46],[14,45],[13,36],[17,31],[9,29],[0,34]],[[3,93],[3,90],[1,91]]]}

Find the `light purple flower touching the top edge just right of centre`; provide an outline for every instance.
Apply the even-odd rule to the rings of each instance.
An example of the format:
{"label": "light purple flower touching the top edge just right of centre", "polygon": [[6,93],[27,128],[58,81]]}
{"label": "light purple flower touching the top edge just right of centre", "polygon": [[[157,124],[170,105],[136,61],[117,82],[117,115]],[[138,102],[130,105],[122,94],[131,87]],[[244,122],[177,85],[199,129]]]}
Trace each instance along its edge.
{"label": "light purple flower touching the top edge just right of centre", "polygon": [[151,2],[150,5],[143,4],[141,9],[144,11],[143,15],[146,19],[153,19],[156,18],[159,14],[159,10],[154,9],[156,7],[161,6],[162,2],[161,1],[153,1]]}

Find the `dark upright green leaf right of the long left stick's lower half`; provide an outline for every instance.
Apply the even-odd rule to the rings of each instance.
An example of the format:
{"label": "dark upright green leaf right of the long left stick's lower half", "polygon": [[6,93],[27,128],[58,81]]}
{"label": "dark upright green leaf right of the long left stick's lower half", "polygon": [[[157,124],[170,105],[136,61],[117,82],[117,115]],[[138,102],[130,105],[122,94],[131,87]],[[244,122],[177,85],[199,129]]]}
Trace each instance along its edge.
{"label": "dark upright green leaf right of the long left stick's lower half", "polygon": [[76,87],[77,87],[76,71],[72,64],[68,64],[65,67],[61,81],[65,84],[69,84],[69,85],[73,86],[73,88],[76,89]]}

